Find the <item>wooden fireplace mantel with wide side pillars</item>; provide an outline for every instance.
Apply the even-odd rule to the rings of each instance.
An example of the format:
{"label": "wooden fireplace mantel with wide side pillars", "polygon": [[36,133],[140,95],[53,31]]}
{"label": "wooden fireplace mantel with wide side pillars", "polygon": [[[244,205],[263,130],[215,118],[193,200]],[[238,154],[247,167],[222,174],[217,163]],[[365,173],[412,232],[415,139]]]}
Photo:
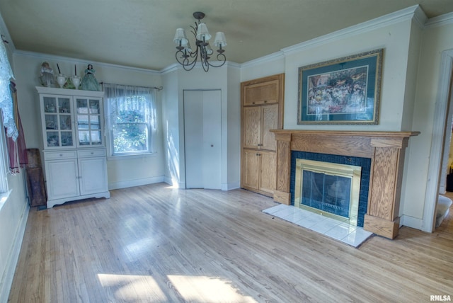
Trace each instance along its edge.
{"label": "wooden fireplace mantel with wide side pillars", "polygon": [[271,130],[277,140],[277,186],[274,200],[291,203],[291,151],[359,156],[371,159],[364,229],[394,239],[399,229],[399,202],[408,140],[420,132],[350,132]]}

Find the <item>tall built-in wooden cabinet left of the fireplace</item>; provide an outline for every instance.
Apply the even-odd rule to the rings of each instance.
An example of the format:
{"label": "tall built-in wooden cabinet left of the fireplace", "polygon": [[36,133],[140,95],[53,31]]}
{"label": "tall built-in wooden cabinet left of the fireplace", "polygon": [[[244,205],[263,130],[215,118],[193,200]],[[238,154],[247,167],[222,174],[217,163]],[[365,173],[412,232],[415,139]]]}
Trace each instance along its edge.
{"label": "tall built-in wooden cabinet left of the fireplace", "polygon": [[283,125],[285,74],[241,83],[241,188],[273,196],[277,144]]}

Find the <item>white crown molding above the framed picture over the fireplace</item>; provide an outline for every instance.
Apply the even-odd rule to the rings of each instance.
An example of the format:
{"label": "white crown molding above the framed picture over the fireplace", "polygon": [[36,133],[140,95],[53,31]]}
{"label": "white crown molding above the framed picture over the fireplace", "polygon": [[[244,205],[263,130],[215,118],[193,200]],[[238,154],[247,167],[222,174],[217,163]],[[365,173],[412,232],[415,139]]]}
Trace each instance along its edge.
{"label": "white crown molding above the framed picture over the fireplace", "polygon": [[[328,42],[332,42],[334,40],[340,40],[346,37],[350,37],[352,35],[357,35],[360,33],[367,33],[371,30],[375,30],[377,28],[382,28],[384,26],[388,26],[395,23],[400,23],[402,21],[408,21],[413,19],[415,16],[416,11],[420,9],[418,5],[411,6],[408,8],[404,8],[400,11],[396,11],[394,13],[389,13],[385,16],[374,18],[369,21],[365,21],[363,23],[352,25],[348,28],[344,28],[343,30],[337,30],[332,33],[328,33],[326,35],[320,36],[318,38],[314,38],[305,42],[301,42],[297,45],[292,45],[290,47],[285,47],[282,49],[282,52],[285,55],[292,54],[294,52],[300,52],[309,47],[315,47],[317,45],[323,45]],[[418,13],[418,18],[420,17],[420,13]]]}

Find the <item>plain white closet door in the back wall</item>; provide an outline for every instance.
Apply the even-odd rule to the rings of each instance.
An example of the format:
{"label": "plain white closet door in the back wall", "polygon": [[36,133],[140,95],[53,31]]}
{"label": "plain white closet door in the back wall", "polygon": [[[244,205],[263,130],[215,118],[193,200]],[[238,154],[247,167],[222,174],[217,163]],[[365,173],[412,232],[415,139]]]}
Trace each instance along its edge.
{"label": "plain white closet door in the back wall", "polygon": [[184,91],[185,187],[221,188],[220,91]]}

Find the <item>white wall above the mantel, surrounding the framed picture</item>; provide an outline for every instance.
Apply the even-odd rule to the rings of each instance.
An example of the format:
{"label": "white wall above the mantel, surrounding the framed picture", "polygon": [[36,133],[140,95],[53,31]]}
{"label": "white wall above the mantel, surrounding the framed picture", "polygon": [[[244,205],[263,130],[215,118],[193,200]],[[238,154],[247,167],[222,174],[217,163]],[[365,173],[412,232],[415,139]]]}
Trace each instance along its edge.
{"label": "white wall above the mantel, surrounding the framed picture", "polygon": [[[288,52],[285,60],[285,129],[400,131],[411,20],[372,29],[344,38],[326,40]],[[299,67],[370,50],[384,49],[379,125],[298,125]]]}

